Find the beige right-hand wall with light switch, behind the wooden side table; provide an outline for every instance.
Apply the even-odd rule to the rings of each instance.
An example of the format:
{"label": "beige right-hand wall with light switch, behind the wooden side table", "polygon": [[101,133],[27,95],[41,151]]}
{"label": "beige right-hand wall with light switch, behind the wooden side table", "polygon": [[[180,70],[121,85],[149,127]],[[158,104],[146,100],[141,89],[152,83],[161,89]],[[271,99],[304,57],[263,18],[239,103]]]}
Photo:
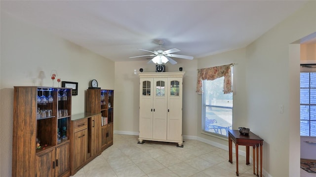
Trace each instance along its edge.
{"label": "beige right-hand wall with light switch, behind the wooden side table", "polygon": [[248,125],[265,140],[263,166],[274,177],[300,176],[300,54],[291,43],[314,32],[316,1],[310,1],[247,47]]}

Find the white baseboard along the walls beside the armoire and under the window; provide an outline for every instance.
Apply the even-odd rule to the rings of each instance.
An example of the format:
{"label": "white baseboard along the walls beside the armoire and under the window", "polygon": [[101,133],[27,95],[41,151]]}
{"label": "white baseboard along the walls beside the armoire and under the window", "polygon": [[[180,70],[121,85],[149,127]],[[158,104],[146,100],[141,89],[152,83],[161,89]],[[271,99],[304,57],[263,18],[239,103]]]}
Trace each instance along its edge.
{"label": "white baseboard along the walls beside the armoire and under the window", "polygon": [[[138,132],[129,132],[129,131],[114,131],[114,134],[119,134],[119,135],[136,135],[136,136],[139,135]],[[221,144],[221,143],[218,143],[218,142],[213,142],[213,141],[210,141],[210,140],[206,140],[206,139],[203,139],[203,138],[200,138],[200,137],[197,137],[197,136],[184,135],[183,139],[197,140],[197,141],[200,141],[200,142],[205,142],[207,144],[210,144],[210,145],[213,145],[215,147],[218,147],[218,148],[221,148],[221,149],[224,149],[224,150],[228,151],[228,145],[224,145],[224,144]],[[235,152],[235,151],[236,151],[236,149],[233,148],[233,152]],[[246,156],[246,152],[242,151],[242,150],[238,150],[238,154],[242,155],[244,157]],[[253,159],[250,157],[249,161],[252,162],[252,160]],[[265,176],[265,177],[272,177],[265,169],[262,169],[262,175]]]}

